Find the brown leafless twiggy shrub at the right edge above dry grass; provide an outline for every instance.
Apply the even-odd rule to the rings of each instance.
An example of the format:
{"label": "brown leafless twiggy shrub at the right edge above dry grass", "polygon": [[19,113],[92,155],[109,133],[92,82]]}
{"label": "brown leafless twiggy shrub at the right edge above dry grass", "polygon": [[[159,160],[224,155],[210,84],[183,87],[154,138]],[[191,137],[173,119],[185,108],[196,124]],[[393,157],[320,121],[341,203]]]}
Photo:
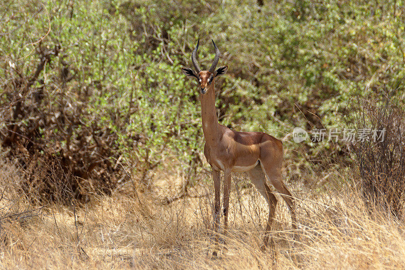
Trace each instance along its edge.
{"label": "brown leafless twiggy shrub at the right edge above dry grass", "polygon": [[[382,91],[380,98],[363,101],[356,129],[381,130],[380,138],[354,143],[361,187],[366,202],[403,217],[405,204],[405,108],[398,99],[402,80]],[[380,135],[380,134],[379,134]]]}

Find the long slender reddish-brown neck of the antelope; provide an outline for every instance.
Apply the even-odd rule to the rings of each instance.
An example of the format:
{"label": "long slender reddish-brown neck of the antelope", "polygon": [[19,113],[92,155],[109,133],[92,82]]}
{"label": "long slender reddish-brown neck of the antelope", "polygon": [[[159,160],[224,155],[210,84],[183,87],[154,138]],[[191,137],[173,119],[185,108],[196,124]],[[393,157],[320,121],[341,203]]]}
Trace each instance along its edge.
{"label": "long slender reddish-brown neck of the antelope", "polygon": [[215,88],[214,82],[209,86],[206,94],[200,94],[201,119],[203,119],[203,132],[206,143],[215,146],[221,138],[221,128],[218,123],[215,109]]}

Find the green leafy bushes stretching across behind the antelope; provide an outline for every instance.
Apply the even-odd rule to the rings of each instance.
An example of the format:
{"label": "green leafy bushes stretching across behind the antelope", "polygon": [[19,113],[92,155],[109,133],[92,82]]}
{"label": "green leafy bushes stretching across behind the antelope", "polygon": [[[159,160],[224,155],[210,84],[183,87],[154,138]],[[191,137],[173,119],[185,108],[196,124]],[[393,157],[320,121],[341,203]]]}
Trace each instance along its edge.
{"label": "green leafy bushes stretching across behind the antelope", "polygon": [[[343,129],[354,97],[379,95],[384,82],[405,74],[405,12],[398,1],[1,5],[2,109],[15,108],[15,93],[25,91],[28,98],[42,88],[50,98],[47,112],[80,107],[83,119],[72,127],[72,140],[79,140],[82,126],[96,122],[108,128],[116,137],[115,159],[133,161],[144,177],[165,160],[183,163],[188,173],[201,168],[199,94],[180,72],[192,66],[197,38],[200,65],[210,65],[214,38],[220,64],[230,67],[216,84],[217,108],[220,122],[235,130],[284,137],[294,127]],[[52,48],[59,48],[58,54],[35,74],[38,52]],[[13,84],[15,78],[32,82]],[[6,115],[6,124],[24,120]],[[52,132],[66,147],[62,131]],[[287,165],[308,158],[292,151],[296,144],[285,146]],[[303,147],[316,159],[319,149],[329,146]]]}

